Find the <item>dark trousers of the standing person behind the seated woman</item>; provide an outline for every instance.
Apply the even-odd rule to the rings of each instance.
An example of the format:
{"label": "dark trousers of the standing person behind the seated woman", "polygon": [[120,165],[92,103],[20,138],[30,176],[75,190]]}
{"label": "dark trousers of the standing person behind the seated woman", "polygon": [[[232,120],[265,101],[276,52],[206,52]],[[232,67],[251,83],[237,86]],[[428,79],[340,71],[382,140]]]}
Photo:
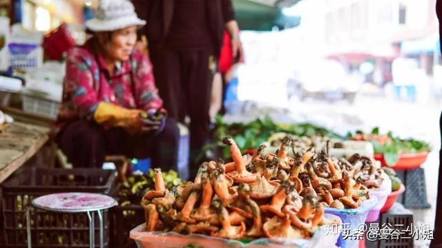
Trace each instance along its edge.
{"label": "dark trousers of the standing person behind the seated woman", "polygon": [[209,48],[174,50],[164,46],[149,45],[155,84],[169,115],[181,122],[186,115],[191,119],[190,174],[195,175],[195,159],[210,138],[209,107],[213,70],[209,63],[213,54]]}

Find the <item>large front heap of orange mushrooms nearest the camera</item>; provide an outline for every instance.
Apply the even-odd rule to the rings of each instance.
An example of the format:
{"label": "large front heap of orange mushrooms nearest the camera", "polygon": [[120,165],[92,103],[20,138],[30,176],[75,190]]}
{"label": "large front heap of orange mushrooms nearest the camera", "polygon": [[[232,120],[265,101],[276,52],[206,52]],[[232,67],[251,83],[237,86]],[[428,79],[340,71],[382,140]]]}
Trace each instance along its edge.
{"label": "large front heap of orange mushrooms nearest the camera", "polygon": [[155,169],[155,190],[142,199],[146,231],[230,239],[310,238],[318,226],[332,222],[323,216],[318,194],[287,174],[296,162],[287,156],[287,145],[278,154],[264,156],[261,146],[253,156],[242,156],[232,138],[223,142],[233,162],[203,163],[193,182],[166,189],[160,169]]}

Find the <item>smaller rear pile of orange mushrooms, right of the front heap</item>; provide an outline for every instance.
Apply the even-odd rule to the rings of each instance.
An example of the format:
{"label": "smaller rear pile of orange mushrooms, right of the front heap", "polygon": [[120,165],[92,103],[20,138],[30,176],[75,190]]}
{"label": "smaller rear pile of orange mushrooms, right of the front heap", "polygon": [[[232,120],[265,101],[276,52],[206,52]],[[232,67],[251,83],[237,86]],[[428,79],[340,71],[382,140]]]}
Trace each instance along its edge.
{"label": "smaller rear pile of orange mushrooms, right of the front heap", "polygon": [[287,136],[277,154],[265,157],[268,163],[280,161],[271,174],[288,177],[300,189],[300,196],[314,194],[323,207],[357,208],[369,199],[369,189],[377,189],[383,181],[381,167],[366,156],[354,154],[348,160],[332,158],[327,143],[325,151],[316,152],[311,147],[290,158],[287,147],[291,143],[291,137]]}

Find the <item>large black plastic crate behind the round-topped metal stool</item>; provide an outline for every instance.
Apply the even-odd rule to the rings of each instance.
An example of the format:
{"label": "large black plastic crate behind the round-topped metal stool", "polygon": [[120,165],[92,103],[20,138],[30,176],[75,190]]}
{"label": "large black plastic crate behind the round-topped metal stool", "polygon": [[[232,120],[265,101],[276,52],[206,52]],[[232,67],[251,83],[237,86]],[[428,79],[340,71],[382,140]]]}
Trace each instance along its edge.
{"label": "large black plastic crate behind the round-topped metal stool", "polygon": [[[27,247],[26,209],[32,199],[61,192],[109,194],[115,172],[103,169],[23,168],[1,184],[3,247]],[[32,247],[89,247],[86,214],[58,214],[30,207]],[[108,211],[104,211],[104,243],[108,246]],[[95,215],[95,246],[99,222]]]}

